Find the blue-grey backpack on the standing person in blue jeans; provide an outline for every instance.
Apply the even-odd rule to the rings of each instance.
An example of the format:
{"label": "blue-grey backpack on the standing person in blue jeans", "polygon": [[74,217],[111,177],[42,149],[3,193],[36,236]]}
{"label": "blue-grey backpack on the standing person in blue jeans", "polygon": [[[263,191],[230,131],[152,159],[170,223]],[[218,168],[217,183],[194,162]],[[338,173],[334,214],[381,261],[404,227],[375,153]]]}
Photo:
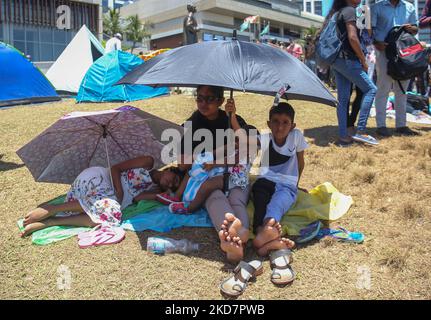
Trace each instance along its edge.
{"label": "blue-grey backpack on the standing person in blue jeans", "polygon": [[316,62],[322,69],[334,63],[343,45],[345,35],[339,35],[337,20],[338,13],[335,13],[327,20],[316,38]]}

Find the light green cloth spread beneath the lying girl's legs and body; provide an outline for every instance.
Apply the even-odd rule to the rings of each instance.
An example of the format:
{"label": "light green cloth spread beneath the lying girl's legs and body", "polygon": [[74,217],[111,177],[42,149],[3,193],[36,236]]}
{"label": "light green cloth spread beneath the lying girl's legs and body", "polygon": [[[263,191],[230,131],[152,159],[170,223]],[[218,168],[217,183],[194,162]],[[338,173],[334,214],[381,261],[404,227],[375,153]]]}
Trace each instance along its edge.
{"label": "light green cloth spread beneath the lying girl's legs and body", "polygon": [[[64,203],[65,195],[61,195],[55,199],[49,201],[49,204],[60,204]],[[142,214],[151,211],[155,208],[162,206],[161,203],[157,201],[139,201],[137,204],[132,204],[123,210],[123,220],[130,219],[138,214]],[[23,231],[24,219],[18,220],[18,228]],[[88,231],[89,227],[74,227],[74,226],[53,226],[42,230],[33,232],[32,242],[34,244],[44,246],[53,242],[68,239],[70,237],[78,235],[78,233]]]}

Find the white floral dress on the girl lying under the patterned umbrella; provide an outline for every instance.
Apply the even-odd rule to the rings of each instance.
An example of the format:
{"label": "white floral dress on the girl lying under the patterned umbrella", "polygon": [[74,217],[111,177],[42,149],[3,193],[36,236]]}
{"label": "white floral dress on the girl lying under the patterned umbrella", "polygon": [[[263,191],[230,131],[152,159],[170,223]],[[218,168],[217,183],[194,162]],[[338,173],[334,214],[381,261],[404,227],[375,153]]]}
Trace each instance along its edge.
{"label": "white floral dress on the girl lying under the patterned umbrella", "polygon": [[150,171],[144,168],[129,169],[121,173],[123,201],[120,205],[111,183],[109,170],[91,167],[82,171],[73,182],[66,202],[78,200],[85,213],[95,223],[119,226],[122,209],[133,202],[133,198],[154,187]]}

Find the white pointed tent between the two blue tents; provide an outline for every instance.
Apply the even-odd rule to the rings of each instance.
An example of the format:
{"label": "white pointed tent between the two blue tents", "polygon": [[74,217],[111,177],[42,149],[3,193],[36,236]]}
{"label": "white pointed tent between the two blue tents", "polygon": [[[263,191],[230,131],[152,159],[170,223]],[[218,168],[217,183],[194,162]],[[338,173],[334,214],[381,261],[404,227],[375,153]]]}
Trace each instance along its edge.
{"label": "white pointed tent between the two blue tents", "polygon": [[103,53],[103,46],[84,25],[49,68],[46,77],[58,92],[75,94],[88,68]]}

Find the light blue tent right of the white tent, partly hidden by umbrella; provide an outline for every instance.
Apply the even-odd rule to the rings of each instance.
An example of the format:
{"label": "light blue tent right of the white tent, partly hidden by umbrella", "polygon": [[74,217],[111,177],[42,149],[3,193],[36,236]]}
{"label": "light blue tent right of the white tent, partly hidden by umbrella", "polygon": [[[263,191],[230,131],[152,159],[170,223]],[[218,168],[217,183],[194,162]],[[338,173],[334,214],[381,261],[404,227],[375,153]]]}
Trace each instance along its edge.
{"label": "light blue tent right of the white tent, partly hidden by umbrella", "polygon": [[124,51],[111,51],[88,69],[76,97],[77,102],[135,101],[169,93],[167,87],[117,85],[123,76],[144,61]]}

